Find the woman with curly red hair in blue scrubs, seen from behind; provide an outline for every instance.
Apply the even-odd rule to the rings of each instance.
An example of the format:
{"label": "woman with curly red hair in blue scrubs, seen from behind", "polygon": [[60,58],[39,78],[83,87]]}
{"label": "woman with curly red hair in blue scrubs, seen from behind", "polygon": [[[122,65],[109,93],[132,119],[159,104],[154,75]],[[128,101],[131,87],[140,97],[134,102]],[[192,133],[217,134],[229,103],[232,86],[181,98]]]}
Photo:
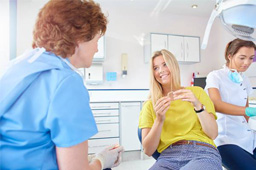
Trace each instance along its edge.
{"label": "woman with curly red hair in blue scrubs, seen from behind", "polygon": [[51,0],[39,12],[33,50],[0,78],[0,169],[93,169],[120,163],[122,147],[88,160],[97,133],[77,68],[90,67],[107,19],[87,0]]}

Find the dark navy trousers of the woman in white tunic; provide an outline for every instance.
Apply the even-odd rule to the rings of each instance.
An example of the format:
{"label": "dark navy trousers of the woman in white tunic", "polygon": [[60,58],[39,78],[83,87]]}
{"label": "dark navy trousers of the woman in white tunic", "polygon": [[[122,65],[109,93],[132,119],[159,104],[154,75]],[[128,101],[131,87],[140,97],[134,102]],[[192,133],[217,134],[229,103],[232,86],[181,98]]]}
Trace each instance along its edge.
{"label": "dark navy trousers of the woman in white tunic", "polygon": [[218,147],[222,164],[228,170],[255,170],[256,149],[253,155],[237,145],[221,145]]}

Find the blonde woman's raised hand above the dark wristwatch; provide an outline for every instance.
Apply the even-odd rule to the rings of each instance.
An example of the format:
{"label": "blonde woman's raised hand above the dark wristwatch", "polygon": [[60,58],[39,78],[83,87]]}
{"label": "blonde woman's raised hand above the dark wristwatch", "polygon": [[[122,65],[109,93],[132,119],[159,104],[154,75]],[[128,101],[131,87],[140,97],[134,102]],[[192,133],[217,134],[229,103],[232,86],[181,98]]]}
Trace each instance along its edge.
{"label": "blonde woman's raised hand above the dark wristwatch", "polygon": [[202,107],[202,104],[200,101],[196,98],[194,93],[191,90],[188,89],[180,89],[173,92],[173,99],[178,100],[181,99],[183,101],[191,102],[191,104],[194,106],[196,110],[200,110]]}

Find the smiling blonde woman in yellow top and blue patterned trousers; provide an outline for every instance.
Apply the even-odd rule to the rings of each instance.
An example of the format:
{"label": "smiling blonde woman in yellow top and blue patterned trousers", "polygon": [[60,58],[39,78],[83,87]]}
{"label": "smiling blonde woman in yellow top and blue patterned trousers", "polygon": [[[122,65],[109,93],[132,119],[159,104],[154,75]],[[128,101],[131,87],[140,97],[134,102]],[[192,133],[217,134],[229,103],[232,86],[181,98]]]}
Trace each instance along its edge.
{"label": "smiling blonde woman in yellow top and blue patterned trousers", "polygon": [[200,87],[181,87],[178,62],[167,50],[155,52],[150,70],[150,97],[139,120],[144,152],[160,153],[150,170],[222,169],[210,98]]}

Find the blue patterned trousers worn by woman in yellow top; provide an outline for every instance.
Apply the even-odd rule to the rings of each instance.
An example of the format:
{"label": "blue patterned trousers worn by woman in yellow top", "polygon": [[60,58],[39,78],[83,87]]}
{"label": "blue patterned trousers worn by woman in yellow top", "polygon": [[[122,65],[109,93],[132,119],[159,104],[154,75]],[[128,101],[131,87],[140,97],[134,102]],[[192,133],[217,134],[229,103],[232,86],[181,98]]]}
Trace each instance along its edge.
{"label": "blue patterned trousers worn by woman in yellow top", "polygon": [[[203,143],[204,142],[198,142]],[[208,144],[210,145],[210,144]],[[210,145],[211,146],[211,145]],[[150,170],[222,170],[217,149],[196,145],[170,145]]]}

